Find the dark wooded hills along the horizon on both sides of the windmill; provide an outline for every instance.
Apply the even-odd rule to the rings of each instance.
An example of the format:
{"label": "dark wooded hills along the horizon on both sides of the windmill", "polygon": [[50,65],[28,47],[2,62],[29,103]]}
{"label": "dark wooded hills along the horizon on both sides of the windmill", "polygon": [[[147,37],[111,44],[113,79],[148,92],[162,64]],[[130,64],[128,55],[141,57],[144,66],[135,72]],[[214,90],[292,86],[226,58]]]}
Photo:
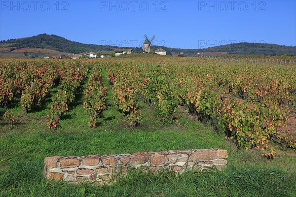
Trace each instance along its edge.
{"label": "dark wooded hills along the horizon on both sides of the windmill", "polygon": [[[83,53],[83,52],[98,52],[98,51],[113,51],[118,48],[117,46],[110,45],[96,45],[96,44],[83,44],[75,41],[68,40],[58,35],[39,34],[32,37],[9,39],[0,41],[0,48],[6,48],[6,52],[11,49],[21,48],[41,48],[51,49],[64,53]],[[230,55],[280,55],[289,54],[296,56],[296,46],[283,46],[277,44],[263,44],[263,43],[234,43],[222,46],[209,47],[206,49],[179,49],[163,46],[152,46],[153,50],[163,48],[167,51],[167,55],[180,54],[194,56],[198,53],[207,52],[227,52]],[[142,52],[141,47],[133,48],[134,52]]]}

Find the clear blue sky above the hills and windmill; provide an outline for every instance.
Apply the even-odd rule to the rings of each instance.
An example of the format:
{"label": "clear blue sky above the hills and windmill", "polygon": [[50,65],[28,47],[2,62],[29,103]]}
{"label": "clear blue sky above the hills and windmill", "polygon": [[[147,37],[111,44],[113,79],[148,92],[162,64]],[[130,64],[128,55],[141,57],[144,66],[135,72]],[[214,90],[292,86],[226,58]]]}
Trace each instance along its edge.
{"label": "clear blue sky above the hills and windmill", "polygon": [[40,33],[87,44],[296,45],[296,0],[0,0],[0,40]]}

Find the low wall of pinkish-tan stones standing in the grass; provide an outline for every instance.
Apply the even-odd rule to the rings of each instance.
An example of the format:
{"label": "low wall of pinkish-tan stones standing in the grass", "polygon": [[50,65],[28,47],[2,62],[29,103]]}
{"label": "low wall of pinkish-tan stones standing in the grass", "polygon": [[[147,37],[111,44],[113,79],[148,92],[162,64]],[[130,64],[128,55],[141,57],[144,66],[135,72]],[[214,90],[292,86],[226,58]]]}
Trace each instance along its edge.
{"label": "low wall of pinkish-tan stones standing in the grass", "polygon": [[47,179],[71,183],[109,183],[129,169],[160,169],[182,173],[184,170],[204,171],[209,167],[222,170],[227,164],[227,150],[170,150],[119,155],[89,155],[87,157],[47,157],[44,175]]}

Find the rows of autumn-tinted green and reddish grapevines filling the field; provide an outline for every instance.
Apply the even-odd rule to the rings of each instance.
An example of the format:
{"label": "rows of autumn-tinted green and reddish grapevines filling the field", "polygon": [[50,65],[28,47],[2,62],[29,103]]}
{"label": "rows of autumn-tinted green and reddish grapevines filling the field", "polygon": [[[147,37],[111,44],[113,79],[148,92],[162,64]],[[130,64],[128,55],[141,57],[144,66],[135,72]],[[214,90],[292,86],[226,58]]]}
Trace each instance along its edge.
{"label": "rows of autumn-tinted green and reddish grapevines filling the field", "polygon": [[279,139],[295,149],[294,139],[279,134],[285,129],[289,116],[296,114],[293,61],[291,65],[283,65],[275,64],[284,63],[282,60],[260,64],[258,60],[227,64],[223,63],[225,59],[221,60],[1,60],[0,105],[20,97],[21,107],[28,112],[40,105],[56,85],[58,91],[46,125],[57,129],[61,116],[75,99],[75,91],[92,69],[83,105],[89,114],[89,126],[96,128],[97,118],[106,109],[107,87],[102,84],[102,69],[106,69],[112,84],[109,91],[130,127],[137,127],[141,122],[143,117],[137,102],[144,99],[163,121],[176,124],[174,112],[179,105],[185,106],[194,118],[221,127],[226,138],[245,149],[266,149],[270,139]]}

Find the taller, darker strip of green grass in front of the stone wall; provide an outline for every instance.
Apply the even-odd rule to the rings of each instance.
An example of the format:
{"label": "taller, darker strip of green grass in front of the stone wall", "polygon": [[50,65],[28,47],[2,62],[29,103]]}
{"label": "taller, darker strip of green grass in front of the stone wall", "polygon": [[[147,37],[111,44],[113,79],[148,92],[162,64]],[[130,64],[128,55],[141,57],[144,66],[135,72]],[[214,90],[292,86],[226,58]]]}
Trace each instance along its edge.
{"label": "taller, darker strip of green grass in front of the stone wall", "polygon": [[293,197],[295,178],[295,174],[282,170],[228,167],[222,172],[185,172],[180,176],[165,171],[155,175],[136,171],[108,186],[68,185],[46,181],[42,162],[16,162],[0,178],[0,196]]}

